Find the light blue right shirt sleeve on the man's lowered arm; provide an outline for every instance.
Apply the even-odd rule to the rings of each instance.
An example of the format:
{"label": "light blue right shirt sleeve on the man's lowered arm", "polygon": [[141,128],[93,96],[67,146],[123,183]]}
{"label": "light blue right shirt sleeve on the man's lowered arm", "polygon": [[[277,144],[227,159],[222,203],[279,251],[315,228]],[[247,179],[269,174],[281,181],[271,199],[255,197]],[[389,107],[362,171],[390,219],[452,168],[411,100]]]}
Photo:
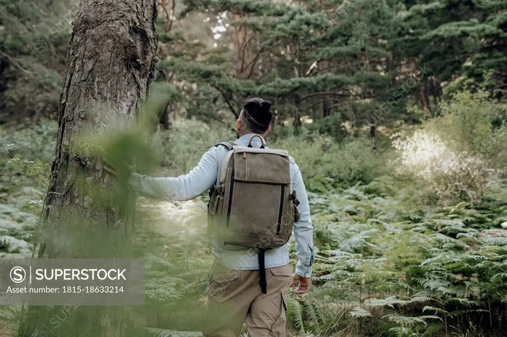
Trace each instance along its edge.
{"label": "light blue right shirt sleeve on the man's lowered arm", "polygon": [[298,211],[300,219],[294,224],[294,236],[296,237],[296,250],[298,251],[298,265],[296,274],[303,277],[310,277],[313,265],[313,227],[310,219],[310,204],[306,194],[305,184],[301,171],[295,164],[296,172],[294,174],[293,190],[299,200]]}

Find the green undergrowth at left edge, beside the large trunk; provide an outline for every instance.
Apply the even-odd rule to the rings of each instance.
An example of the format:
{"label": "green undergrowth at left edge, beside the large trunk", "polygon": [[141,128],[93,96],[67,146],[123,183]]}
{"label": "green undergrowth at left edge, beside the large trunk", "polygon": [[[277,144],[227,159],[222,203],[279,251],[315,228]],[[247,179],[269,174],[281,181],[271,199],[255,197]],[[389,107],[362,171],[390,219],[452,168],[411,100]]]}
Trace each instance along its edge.
{"label": "green undergrowth at left edge, beside the large trunk", "polygon": [[0,128],[0,256],[30,257],[50,180],[57,125]]}

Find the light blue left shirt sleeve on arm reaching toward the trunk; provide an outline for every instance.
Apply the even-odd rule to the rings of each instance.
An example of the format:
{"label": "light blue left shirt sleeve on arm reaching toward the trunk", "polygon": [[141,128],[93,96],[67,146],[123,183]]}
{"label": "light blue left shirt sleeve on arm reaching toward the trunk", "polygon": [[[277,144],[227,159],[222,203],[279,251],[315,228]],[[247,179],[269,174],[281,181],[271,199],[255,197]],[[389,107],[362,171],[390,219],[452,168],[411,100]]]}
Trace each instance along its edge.
{"label": "light blue left shirt sleeve on arm reaching toward the trunk", "polygon": [[204,153],[197,166],[186,175],[176,178],[153,178],[132,173],[127,185],[130,189],[151,199],[168,201],[194,199],[216,183],[219,151],[218,147],[210,148]]}

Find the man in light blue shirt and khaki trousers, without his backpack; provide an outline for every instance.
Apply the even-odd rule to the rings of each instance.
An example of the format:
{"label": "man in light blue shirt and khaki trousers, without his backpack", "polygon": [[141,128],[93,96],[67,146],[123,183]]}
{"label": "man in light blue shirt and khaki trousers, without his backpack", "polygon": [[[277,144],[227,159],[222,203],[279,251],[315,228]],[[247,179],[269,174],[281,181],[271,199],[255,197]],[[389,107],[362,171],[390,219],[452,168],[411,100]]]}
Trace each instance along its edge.
{"label": "man in light blue shirt and khaki trousers, without his backpack", "polygon": [[[271,126],[273,113],[269,101],[252,98],[242,105],[236,120],[235,143],[252,147],[265,144],[264,137]],[[256,138],[253,136],[259,135]],[[168,191],[171,201],[190,200],[218,186],[222,161],[228,149],[223,146],[210,148],[198,165],[187,175],[177,178],[152,178],[136,173],[123,175],[127,184],[143,196],[164,199]],[[313,228],[310,207],[303,179],[294,158],[289,157],[292,189],[299,199],[300,219],[294,224],[299,262],[292,276],[287,244],[265,252],[267,292],[259,286],[259,260],[256,249],[237,246],[224,249],[216,237],[212,238],[215,262],[208,279],[208,305],[203,334],[208,337],[237,337],[246,320],[252,337],[286,336],[286,310],[288,287],[295,286],[297,294],[310,290],[313,264]],[[114,166],[113,166],[114,167]],[[104,167],[108,173],[120,179],[120,173]],[[255,196],[252,196],[252,200]],[[260,210],[261,211],[261,210]],[[292,276],[292,278],[291,278]],[[291,282],[292,279],[292,282]]]}

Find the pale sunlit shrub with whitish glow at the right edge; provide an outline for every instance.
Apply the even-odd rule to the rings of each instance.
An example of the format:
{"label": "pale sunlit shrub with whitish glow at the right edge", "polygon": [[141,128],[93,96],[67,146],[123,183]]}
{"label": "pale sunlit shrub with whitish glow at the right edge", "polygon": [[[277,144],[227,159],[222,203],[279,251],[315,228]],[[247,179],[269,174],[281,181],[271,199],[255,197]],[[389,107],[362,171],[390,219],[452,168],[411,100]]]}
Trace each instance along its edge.
{"label": "pale sunlit shrub with whitish glow at the right edge", "polygon": [[491,122],[502,107],[479,90],[459,92],[438,108],[441,115],[424,120],[413,133],[392,136],[398,153],[393,170],[423,200],[475,204],[505,160],[505,125],[495,128]]}

